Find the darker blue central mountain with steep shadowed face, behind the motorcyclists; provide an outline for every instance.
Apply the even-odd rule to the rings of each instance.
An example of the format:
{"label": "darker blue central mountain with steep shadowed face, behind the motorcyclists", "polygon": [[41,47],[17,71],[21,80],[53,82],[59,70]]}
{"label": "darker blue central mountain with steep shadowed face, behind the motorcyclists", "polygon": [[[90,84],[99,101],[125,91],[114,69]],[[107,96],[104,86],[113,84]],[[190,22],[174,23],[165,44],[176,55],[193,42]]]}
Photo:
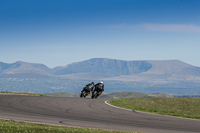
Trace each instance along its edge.
{"label": "darker blue central mountain with steep shadowed face, behind the motorcyclists", "polygon": [[114,59],[94,58],[73,63],[67,65],[66,67],[57,67],[55,69],[57,70],[55,74],[88,74],[93,75],[93,77],[104,78],[138,74],[148,71],[151,67],[152,65],[146,61],[122,61]]}

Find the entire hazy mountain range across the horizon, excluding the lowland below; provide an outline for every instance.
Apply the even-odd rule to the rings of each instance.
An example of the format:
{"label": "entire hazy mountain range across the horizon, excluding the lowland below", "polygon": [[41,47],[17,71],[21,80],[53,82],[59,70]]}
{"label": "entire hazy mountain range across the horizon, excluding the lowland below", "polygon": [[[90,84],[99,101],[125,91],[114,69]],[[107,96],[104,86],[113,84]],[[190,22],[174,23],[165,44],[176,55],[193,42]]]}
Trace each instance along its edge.
{"label": "entire hazy mountain range across the horizon, excluding the lowland below", "polygon": [[43,64],[18,61],[0,62],[0,77],[62,77],[68,79],[96,79],[172,83],[200,82],[200,67],[179,60],[123,61],[94,58],[64,67],[48,68]]}

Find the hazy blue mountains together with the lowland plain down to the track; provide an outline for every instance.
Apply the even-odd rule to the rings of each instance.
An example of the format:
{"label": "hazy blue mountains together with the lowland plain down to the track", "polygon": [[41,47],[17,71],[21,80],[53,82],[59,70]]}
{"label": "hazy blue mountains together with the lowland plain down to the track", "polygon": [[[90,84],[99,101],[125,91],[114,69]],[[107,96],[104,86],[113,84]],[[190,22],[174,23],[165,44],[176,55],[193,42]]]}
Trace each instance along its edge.
{"label": "hazy blue mountains together with the lowland plain down to the track", "polygon": [[[13,78],[20,79],[23,84]],[[22,61],[11,64],[0,62],[0,90],[22,91],[21,87],[23,91],[30,88],[28,91],[37,93],[41,89],[42,92],[62,90],[77,93],[86,82],[100,80],[107,84],[106,93],[125,89],[123,91],[170,94],[182,91],[185,92],[182,94],[188,94],[193,90],[191,92],[200,94],[200,67],[179,60],[124,61],[93,58],[53,69],[43,64]]]}

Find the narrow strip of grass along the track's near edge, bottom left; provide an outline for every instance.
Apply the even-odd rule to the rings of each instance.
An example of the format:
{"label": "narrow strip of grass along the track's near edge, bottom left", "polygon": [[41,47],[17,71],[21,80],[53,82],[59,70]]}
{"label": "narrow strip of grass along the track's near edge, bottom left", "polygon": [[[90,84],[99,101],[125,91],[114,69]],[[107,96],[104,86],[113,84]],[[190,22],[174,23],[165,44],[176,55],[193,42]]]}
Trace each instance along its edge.
{"label": "narrow strip of grass along the track's near edge, bottom left", "polygon": [[13,120],[0,120],[1,133],[128,133],[102,129],[50,126]]}

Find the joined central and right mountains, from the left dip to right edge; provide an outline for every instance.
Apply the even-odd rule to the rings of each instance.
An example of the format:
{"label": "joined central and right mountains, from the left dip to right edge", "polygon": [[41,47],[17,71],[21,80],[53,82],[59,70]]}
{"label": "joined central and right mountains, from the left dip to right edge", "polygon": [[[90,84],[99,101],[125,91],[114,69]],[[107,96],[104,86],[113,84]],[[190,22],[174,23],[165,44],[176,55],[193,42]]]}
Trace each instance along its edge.
{"label": "joined central and right mountains, from the left dip to right edge", "polygon": [[148,83],[200,82],[200,68],[179,60],[122,61],[94,58],[56,67],[55,74],[69,79],[97,79]]}

